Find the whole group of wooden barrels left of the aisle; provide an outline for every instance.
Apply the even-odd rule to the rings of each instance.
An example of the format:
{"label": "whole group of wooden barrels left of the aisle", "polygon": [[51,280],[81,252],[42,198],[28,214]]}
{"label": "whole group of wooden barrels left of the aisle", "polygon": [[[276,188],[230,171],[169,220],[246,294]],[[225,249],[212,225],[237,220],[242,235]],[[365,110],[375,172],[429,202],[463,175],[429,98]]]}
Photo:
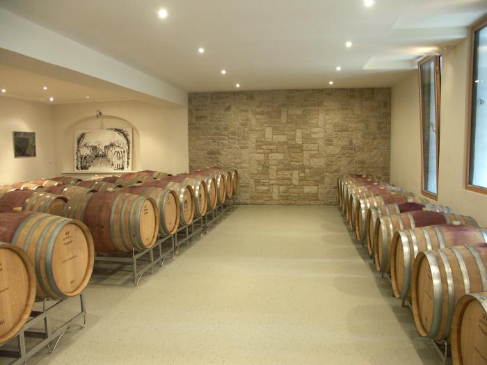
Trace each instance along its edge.
{"label": "whole group of wooden barrels left of the aisle", "polygon": [[22,328],[36,299],[81,293],[95,252],[151,248],[159,234],[175,233],[238,187],[236,171],[216,168],[129,186],[131,177],[116,179],[59,177],[50,180],[61,184],[0,193],[0,343]]}

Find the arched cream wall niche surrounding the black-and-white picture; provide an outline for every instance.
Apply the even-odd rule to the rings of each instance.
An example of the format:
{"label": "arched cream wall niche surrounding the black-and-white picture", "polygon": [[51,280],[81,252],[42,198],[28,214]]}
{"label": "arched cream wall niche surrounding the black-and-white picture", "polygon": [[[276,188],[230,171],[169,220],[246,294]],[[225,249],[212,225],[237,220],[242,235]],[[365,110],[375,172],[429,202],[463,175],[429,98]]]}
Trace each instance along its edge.
{"label": "arched cream wall niche surrounding the black-and-white picture", "polygon": [[[64,170],[74,172],[74,131],[76,129],[106,129],[106,128],[131,128],[132,129],[132,170],[141,170],[141,136],[137,127],[117,115],[102,115],[101,117],[89,116],[70,122],[63,130],[62,150],[69,151],[63,156]],[[112,173],[109,173],[111,175]]]}

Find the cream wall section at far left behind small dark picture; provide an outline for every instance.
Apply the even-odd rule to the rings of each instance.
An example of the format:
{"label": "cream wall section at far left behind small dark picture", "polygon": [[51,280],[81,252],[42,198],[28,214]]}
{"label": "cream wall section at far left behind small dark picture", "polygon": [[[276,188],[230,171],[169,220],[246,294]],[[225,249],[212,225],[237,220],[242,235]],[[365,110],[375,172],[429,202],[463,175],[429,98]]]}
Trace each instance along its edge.
{"label": "cream wall section at far left behind small dark picture", "polygon": [[[37,156],[14,158],[13,131],[35,132]],[[54,175],[52,106],[0,97],[0,185]]]}

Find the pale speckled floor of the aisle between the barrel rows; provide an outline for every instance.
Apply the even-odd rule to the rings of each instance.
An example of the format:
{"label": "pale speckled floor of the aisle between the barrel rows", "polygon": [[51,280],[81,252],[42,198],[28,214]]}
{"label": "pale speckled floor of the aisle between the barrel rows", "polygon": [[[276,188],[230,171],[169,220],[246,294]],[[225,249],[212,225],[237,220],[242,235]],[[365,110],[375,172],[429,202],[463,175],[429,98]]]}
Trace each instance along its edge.
{"label": "pale speckled floor of the aisle between the barrel rows", "polygon": [[238,206],[136,288],[97,270],[32,363],[439,364],[351,237],[335,206]]}

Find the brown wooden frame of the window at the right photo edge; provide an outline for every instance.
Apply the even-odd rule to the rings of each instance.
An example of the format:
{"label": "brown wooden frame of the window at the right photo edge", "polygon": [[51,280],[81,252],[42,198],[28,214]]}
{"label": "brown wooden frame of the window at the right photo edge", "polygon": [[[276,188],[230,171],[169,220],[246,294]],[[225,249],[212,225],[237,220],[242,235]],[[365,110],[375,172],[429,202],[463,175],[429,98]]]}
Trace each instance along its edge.
{"label": "brown wooden frame of the window at the right photo edge", "polygon": [[470,184],[470,158],[472,154],[472,124],[473,117],[473,87],[474,87],[474,53],[475,53],[475,32],[487,26],[487,16],[482,17],[477,23],[470,28],[470,60],[468,72],[468,114],[467,114],[467,143],[466,147],[466,165],[465,165],[465,189],[474,193],[487,195],[487,188]]}

